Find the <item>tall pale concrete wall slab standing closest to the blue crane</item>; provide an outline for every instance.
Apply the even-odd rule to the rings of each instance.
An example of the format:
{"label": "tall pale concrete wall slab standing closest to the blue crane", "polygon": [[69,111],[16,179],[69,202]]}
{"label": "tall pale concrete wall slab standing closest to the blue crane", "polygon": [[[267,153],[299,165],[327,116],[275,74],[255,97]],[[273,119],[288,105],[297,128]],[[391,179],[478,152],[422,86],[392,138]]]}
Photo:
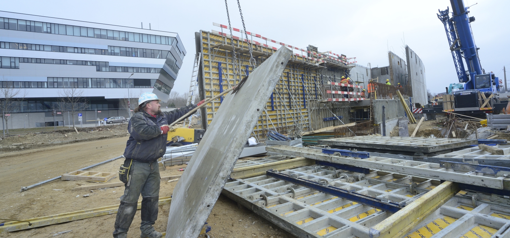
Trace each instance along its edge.
{"label": "tall pale concrete wall slab standing closest to the blue crane", "polygon": [[427,83],[425,79],[425,66],[420,57],[409,46],[405,46],[407,58],[407,72],[409,82],[413,88],[413,103],[427,104]]}

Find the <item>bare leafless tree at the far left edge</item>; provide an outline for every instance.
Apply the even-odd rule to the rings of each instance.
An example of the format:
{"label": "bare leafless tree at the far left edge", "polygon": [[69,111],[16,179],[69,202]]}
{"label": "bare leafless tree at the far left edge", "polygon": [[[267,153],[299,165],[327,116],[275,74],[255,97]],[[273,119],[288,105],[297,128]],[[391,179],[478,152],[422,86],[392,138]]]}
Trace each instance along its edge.
{"label": "bare leafless tree at the far left edge", "polygon": [[9,117],[10,112],[21,109],[21,102],[25,98],[25,91],[21,92],[21,88],[14,87],[14,82],[2,77],[0,81],[0,109],[2,109],[2,118],[5,121],[5,129],[9,133]]}

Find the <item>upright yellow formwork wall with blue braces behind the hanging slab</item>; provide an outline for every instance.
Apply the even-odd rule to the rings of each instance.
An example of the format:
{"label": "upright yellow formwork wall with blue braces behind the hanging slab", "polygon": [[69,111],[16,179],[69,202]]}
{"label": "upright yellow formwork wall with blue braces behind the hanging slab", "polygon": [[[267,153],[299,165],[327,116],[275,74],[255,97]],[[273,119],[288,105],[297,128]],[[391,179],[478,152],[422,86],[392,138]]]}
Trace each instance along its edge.
{"label": "upright yellow formwork wall with blue braces behind the hanging slab", "polygon": [[[195,33],[195,42],[197,52],[202,55],[198,74],[200,100],[218,95],[236,85],[277,50],[265,44],[251,44],[256,62],[255,66],[251,66],[246,40],[232,38],[221,32],[200,31]],[[233,57],[233,48],[236,52],[236,61]],[[339,89],[327,82],[339,81],[349,67],[335,59],[326,58],[320,61],[318,59],[297,53],[292,55],[272,96],[268,98],[262,116],[253,128],[253,136],[263,141],[267,129],[299,134],[331,124],[324,122],[312,125],[310,114],[313,111],[310,109],[310,103],[327,101],[325,91]],[[207,128],[211,123],[221,101],[222,99],[217,99],[201,110],[202,128]],[[348,123],[347,116],[344,120]]]}

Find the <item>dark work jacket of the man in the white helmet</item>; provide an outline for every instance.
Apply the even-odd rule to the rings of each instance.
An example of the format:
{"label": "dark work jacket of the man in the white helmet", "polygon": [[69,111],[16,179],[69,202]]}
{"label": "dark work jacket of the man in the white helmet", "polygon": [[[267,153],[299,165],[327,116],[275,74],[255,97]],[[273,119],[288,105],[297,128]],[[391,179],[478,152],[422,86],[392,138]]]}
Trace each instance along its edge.
{"label": "dark work jacket of the man in the white helmet", "polygon": [[173,111],[163,111],[156,117],[144,110],[133,114],[127,125],[130,137],[124,157],[142,163],[154,162],[162,157],[166,152],[167,134],[162,135],[160,127],[170,125],[195,107],[196,105],[190,105]]}

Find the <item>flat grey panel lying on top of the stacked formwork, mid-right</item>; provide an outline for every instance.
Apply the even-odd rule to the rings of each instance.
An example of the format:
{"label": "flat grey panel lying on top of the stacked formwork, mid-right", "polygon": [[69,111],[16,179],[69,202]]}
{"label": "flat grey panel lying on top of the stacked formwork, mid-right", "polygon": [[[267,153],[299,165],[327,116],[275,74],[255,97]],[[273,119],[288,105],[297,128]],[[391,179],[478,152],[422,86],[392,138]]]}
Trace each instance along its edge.
{"label": "flat grey panel lying on top of the stacked formwork, mid-right", "polygon": [[421,153],[438,152],[449,150],[451,148],[478,144],[478,140],[476,139],[416,138],[398,136],[354,136],[325,139],[319,140],[317,142],[319,144],[378,148],[381,150],[412,151]]}

